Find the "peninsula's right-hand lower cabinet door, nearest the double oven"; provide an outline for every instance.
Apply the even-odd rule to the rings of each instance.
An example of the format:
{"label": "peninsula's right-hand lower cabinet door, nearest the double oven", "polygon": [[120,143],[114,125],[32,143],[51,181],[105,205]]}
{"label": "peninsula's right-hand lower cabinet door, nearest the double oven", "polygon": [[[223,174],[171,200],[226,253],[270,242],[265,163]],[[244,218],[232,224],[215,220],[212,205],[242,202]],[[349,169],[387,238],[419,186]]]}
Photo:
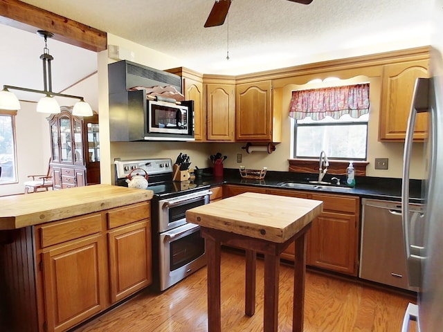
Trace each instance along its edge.
{"label": "peninsula's right-hand lower cabinet door, nearest the double oven", "polygon": [[111,302],[152,283],[151,224],[141,221],[108,233]]}

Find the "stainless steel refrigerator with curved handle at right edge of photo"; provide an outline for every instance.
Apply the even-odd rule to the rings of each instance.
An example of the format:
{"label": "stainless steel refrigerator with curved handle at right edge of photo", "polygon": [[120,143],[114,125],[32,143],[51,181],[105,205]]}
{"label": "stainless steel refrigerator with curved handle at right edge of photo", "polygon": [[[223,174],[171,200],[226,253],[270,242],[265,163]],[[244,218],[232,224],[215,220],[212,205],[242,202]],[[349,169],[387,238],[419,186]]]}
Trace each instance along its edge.
{"label": "stainless steel refrigerator with curved handle at right edge of photo", "polygon": [[[440,0],[439,0],[440,1]],[[443,10],[443,8],[439,8]],[[441,33],[441,32],[440,32]],[[417,305],[409,304],[402,332],[410,320],[419,332],[443,331],[443,58],[437,47],[431,50],[431,75],[417,79],[415,98],[408,120],[404,149],[402,218],[410,286],[419,287]],[[428,163],[423,181],[424,223],[422,239],[416,241],[415,223],[408,213],[409,156],[414,122],[419,112],[428,112],[428,140],[424,162]],[[412,217],[413,218],[413,217]]]}

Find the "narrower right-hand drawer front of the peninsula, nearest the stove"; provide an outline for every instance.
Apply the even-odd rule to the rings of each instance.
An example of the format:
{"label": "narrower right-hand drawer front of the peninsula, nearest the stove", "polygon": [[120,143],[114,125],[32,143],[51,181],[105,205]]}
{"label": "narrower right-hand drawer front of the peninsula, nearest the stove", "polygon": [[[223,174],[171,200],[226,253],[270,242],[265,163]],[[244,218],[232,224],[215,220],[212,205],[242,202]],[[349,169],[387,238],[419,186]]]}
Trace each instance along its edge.
{"label": "narrower right-hand drawer front of the peninsula, nearest the stove", "polygon": [[127,223],[133,223],[151,216],[150,202],[136,203],[107,212],[108,228],[115,228]]}

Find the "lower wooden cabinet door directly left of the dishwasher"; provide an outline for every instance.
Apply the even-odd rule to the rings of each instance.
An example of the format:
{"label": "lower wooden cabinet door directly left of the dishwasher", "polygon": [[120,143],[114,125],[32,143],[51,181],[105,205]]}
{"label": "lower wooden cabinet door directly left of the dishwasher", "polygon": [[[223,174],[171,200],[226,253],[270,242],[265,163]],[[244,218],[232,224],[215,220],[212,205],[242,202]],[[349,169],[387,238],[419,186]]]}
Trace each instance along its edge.
{"label": "lower wooden cabinet door directly left of the dishwasher", "polygon": [[356,275],[355,215],[323,212],[312,221],[307,264]]}

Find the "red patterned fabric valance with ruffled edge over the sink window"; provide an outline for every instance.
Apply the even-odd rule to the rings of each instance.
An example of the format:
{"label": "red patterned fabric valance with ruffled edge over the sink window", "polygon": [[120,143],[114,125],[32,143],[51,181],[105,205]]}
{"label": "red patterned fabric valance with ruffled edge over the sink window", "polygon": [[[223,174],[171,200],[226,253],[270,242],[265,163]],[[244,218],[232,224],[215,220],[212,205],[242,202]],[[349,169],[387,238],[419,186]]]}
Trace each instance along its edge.
{"label": "red patterned fabric valance with ruffled edge over the sink window", "polygon": [[369,113],[369,83],[334,86],[292,92],[289,116],[301,120],[310,116],[322,120],[325,116],[338,119],[343,114],[359,118]]}

